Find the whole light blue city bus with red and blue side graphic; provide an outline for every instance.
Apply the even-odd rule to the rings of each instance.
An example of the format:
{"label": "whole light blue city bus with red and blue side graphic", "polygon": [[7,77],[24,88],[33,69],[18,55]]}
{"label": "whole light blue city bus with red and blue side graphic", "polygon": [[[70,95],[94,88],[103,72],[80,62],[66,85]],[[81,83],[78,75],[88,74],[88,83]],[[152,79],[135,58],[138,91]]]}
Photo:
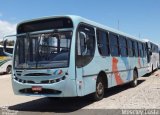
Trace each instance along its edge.
{"label": "whole light blue city bus with red and blue side graphic", "polygon": [[75,97],[130,83],[146,74],[145,42],[79,16],[54,16],[17,26],[12,84],[17,95]]}

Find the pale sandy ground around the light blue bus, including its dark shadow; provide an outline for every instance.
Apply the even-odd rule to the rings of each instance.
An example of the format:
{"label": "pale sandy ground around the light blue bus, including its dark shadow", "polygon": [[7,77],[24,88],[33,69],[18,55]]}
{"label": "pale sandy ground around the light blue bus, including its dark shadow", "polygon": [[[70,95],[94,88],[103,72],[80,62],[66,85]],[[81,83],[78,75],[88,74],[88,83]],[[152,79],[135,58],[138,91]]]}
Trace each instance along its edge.
{"label": "pale sandy ground around the light blue bus, including its dark shadow", "polygon": [[[140,77],[138,86],[128,84],[106,90],[104,99],[93,102],[89,96],[52,100],[13,94],[10,75],[0,76],[0,108],[11,111],[67,113],[95,109],[160,109],[160,70]],[[160,111],[159,111],[160,114]],[[47,114],[48,115],[48,114]]]}

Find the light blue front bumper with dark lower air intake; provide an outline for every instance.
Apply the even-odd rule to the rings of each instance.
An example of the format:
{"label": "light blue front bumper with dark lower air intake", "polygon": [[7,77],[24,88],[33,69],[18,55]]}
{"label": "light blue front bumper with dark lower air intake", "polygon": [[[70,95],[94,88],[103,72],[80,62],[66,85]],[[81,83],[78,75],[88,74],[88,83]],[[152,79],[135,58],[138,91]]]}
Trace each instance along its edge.
{"label": "light blue front bumper with dark lower air intake", "polygon": [[[36,83],[22,83],[16,77],[12,77],[12,86],[15,95],[26,96],[45,96],[45,97],[76,97],[76,83],[75,80],[66,78],[56,83],[50,84],[36,84]],[[42,87],[42,91],[32,91],[33,86]]]}

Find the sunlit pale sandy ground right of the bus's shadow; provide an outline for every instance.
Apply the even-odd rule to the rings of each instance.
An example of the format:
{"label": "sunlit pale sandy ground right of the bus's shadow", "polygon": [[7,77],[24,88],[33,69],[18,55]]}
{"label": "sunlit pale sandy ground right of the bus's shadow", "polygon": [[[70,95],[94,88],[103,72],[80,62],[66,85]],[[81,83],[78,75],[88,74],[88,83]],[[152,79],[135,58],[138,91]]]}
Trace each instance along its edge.
{"label": "sunlit pale sandy ground right of the bus's shadow", "polygon": [[[124,86],[122,86],[124,88]],[[109,92],[110,93],[110,92]],[[160,109],[160,70],[141,77],[135,88],[120,90],[87,109]]]}

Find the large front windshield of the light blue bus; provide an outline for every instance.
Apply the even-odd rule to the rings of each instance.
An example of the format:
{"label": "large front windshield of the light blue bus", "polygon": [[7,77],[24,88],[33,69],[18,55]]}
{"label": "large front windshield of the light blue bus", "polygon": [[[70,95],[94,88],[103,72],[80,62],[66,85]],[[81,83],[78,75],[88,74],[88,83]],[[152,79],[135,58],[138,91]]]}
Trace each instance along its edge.
{"label": "large front windshield of the light blue bus", "polygon": [[18,36],[15,46],[14,68],[68,67],[71,38],[72,31]]}

